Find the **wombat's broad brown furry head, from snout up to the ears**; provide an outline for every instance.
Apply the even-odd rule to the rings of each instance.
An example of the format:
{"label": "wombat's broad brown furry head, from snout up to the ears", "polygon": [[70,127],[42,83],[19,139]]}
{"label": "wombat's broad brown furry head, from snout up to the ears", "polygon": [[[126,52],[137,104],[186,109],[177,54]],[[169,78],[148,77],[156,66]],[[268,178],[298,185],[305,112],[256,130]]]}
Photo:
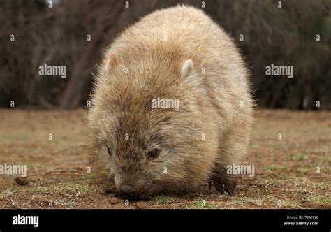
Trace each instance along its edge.
{"label": "wombat's broad brown furry head, from snout up to the ears", "polygon": [[[147,198],[207,180],[217,152],[216,126],[198,82],[183,79],[168,89],[151,81],[120,84],[112,83],[112,99],[96,94],[89,117],[98,156],[119,194]],[[177,106],[164,108],[162,99]]]}

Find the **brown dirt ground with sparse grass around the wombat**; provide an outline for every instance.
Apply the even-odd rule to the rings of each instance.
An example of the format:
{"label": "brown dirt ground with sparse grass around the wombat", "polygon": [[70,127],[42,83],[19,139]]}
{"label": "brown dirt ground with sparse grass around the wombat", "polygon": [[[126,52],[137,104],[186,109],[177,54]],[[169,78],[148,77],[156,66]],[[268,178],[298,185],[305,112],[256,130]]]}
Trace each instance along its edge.
{"label": "brown dirt ground with sparse grass around the wombat", "polygon": [[0,110],[0,164],[26,164],[29,181],[0,175],[0,208],[331,208],[331,112],[258,110],[246,159],[255,175],[242,176],[234,197],[206,183],[132,202],[87,172],[85,114]]}

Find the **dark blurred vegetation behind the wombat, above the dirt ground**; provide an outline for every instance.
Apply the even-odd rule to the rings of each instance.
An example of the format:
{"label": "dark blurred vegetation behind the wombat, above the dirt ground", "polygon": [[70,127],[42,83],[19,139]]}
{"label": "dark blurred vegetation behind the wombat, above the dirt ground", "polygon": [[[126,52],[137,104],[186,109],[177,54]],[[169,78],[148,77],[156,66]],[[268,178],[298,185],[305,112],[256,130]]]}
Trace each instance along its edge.
{"label": "dark blurred vegetation behind the wombat, above the dirt ground", "polygon": [[[202,1],[0,1],[0,107],[86,105],[103,48],[157,8]],[[205,12],[230,33],[251,68],[260,107],[331,109],[330,0],[211,0]],[[10,41],[10,35],[15,41]],[[87,41],[87,35],[91,41]],[[240,41],[240,35],[244,41]],[[316,41],[320,35],[321,41]],[[38,66],[67,66],[67,78],[38,75]],[[294,66],[294,77],[266,76],[265,66]]]}

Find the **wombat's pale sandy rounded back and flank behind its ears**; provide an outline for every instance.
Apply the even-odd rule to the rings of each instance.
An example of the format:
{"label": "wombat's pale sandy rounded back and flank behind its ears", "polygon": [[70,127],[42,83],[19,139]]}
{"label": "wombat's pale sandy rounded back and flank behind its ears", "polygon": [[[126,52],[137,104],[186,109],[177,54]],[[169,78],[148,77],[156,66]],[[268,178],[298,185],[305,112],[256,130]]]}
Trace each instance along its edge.
{"label": "wombat's pale sandy rounded back and flank behind its ears", "polygon": [[202,10],[176,6],[143,17],[112,43],[105,63],[114,54],[117,60],[127,60],[141,59],[152,52],[170,57],[174,63],[179,60],[179,64],[192,59],[212,101],[222,112],[229,111],[230,115],[224,117],[235,117],[237,110],[251,113],[248,73],[240,52],[230,36]]}

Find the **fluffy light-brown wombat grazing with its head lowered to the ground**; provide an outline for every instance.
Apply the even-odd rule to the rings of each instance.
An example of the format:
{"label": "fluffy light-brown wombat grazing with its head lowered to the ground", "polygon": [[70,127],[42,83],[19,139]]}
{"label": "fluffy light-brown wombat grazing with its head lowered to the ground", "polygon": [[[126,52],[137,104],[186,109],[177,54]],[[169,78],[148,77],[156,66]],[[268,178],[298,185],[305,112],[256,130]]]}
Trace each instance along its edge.
{"label": "fluffy light-brown wombat grazing with its head lowered to the ground", "polygon": [[[156,10],[105,50],[91,94],[92,157],[126,198],[209,182],[234,194],[227,166],[247,153],[249,72],[202,10]],[[175,106],[177,104],[177,107]]]}

